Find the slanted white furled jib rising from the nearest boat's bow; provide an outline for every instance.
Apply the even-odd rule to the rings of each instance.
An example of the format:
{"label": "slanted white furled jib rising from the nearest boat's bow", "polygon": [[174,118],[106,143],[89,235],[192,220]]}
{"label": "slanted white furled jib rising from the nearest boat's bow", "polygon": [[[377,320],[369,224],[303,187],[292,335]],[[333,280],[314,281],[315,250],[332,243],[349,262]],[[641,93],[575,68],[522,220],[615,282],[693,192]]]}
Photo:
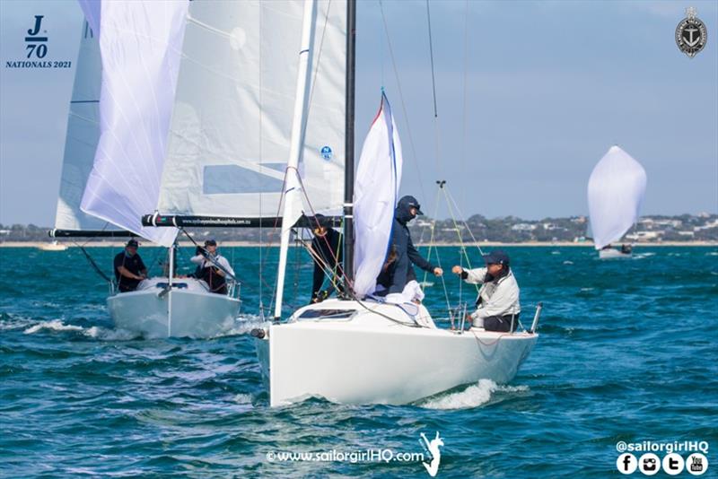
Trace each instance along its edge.
{"label": "slanted white furled jib rising from the nearest boat's bow", "polygon": [[304,19],[302,22],[302,46],[299,50],[299,69],[297,72],[297,88],[294,95],[294,118],[292,122],[292,139],[289,150],[289,160],[286,163],[285,208],[282,214],[282,240],[279,247],[279,266],[276,278],[275,321],[282,317],[282,297],[285,292],[286,256],[289,248],[289,235],[291,226],[285,220],[296,221],[294,210],[295,200],[300,185],[297,179],[299,159],[304,146],[304,126],[307,121],[307,100],[309,99],[309,76],[311,65],[311,37],[314,26],[314,10],[316,0],[304,3]]}

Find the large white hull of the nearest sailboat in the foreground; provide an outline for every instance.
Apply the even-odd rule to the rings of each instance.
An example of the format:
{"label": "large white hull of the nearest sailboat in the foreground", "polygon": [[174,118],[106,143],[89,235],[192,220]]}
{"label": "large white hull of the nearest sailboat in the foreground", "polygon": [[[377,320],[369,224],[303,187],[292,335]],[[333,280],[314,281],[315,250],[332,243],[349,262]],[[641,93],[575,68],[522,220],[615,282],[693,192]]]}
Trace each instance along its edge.
{"label": "large white hull of the nearest sailboat in the foreground", "polygon": [[[368,305],[400,321],[411,320],[395,305]],[[402,405],[479,379],[506,383],[538,338],[483,330],[459,334],[433,327],[431,319],[429,327],[402,326],[356,301],[324,301],[293,318],[321,308],[358,310],[350,319],[300,318],[272,325],[265,338],[256,340],[272,406],[311,396],[341,404]]]}

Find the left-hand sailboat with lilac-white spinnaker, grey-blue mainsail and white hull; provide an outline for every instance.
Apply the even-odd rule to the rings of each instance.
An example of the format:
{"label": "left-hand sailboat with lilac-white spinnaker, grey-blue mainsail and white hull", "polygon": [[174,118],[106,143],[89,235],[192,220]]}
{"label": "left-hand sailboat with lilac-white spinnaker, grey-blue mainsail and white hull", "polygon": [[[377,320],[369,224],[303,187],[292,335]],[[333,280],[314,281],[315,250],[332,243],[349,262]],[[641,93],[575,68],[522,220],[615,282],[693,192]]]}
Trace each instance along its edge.
{"label": "left-hand sailboat with lilac-white spinnaker, grey-blue mainsail and white hull", "polygon": [[[167,104],[171,107],[174,90],[164,86],[168,82],[158,82],[169,91],[150,91],[149,99],[139,100],[137,91],[151,90],[152,78],[149,73],[126,77],[130,68],[122,63],[160,58],[169,62],[157,70],[160,75],[170,80],[172,72],[176,76],[172,64],[179,61],[176,47],[181,45],[187,7],[146,4],[156,14],[153,24],[136,24],[132,30],[127,25],[118,28],[121,15],[117,13],[137,5],[102,3],[101,18],[99,2],[81,5],[87,21],[68,118],[56,224],[50,236],[136,236],[168,248],[166,275],[142,281],[134,292],[118,292],[102,274],[110,283],[107,305],[115,326],[145,337],[218,335],[229,330],[239,314],[238,288],[230,281],[227,294],[218,294],[197,278],[175,277],[177,230],[144,227],[140,218],[157,202],[167,134],[162,125],[169,125]],[[143,28],[152,28],[153,36]],[[100,35],[104,37],[99,39]],[[112,57],[113,51],[119,52],[118,57]],[[165,109],[158,108],[162,106],[158,101]],[[229,279],[234,279],[231,274]]]}

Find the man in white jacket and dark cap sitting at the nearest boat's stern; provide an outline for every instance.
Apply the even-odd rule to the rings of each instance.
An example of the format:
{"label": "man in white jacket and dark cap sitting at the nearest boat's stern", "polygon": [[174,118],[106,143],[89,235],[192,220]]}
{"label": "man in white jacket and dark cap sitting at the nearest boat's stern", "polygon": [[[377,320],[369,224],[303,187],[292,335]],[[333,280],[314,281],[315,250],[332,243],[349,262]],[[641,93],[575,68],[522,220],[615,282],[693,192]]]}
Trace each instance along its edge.
{"label": "man in white jacket and dark cap sitting at the nearest boat's stern", "polygon": [[497,249],[484,255],[485,268],[464,269],[454,266],[451,272],[471,284],[481,284],[477,310],[470,318],[474,327],[486,331],[515,331],[519,323],[519,285],[509,266],[509,256]]}

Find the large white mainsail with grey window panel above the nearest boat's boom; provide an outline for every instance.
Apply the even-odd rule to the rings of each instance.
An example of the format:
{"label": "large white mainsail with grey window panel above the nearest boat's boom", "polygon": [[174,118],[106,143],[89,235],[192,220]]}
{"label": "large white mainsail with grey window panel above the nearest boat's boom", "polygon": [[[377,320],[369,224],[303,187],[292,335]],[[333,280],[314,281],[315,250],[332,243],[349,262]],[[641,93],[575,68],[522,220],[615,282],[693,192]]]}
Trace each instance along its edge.
{"label": "large white mainsail with grey window panel above the nearest boat's boom", "polygon": [[[302,18],[300,0],[190,4],[160,213],[280,213]],[[344,199],[346,0],[318,1],[314,22],[299,170],[313,212],[338,214]],[[311,213],[309,205],[302,209]]]}

